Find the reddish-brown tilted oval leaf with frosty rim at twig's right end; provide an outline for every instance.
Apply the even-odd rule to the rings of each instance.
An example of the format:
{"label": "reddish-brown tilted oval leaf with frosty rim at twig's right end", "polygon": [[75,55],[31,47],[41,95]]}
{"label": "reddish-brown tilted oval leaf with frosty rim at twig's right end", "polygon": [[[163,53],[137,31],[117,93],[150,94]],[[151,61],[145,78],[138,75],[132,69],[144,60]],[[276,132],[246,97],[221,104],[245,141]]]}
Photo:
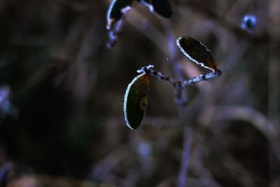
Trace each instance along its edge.
{"label": "reddish-brown tilted oval leaf with frosty rim at twig's right end", "polygon": [[188,59],[200,66],[216,71],[216,62],[211,51],[204,44],[189,36],[180,37],[176,40],[177,46]]}

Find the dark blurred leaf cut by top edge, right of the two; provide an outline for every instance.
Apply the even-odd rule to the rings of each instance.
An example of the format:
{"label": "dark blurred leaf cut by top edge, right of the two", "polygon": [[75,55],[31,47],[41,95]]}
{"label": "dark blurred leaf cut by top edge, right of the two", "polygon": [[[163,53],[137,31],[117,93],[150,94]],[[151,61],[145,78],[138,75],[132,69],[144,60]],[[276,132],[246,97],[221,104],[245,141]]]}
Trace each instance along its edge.
{"label": "dark blurred leaf cut by top edge, right of the two", "polygon": [[172,7],[168,0],[141,0],[141,3],[163,18],[172,17]]}

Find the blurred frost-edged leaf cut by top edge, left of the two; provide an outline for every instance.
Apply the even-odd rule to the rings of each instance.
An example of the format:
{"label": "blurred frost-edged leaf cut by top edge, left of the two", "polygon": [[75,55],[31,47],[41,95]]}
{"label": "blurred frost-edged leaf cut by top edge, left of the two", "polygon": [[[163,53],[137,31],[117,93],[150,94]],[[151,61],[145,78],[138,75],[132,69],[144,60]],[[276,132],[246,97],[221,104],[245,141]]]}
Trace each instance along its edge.
{"label": "blurred frost-edged leaf cut by top edge, left of the two", "polygon": [[122,19],[130,10],[134,0],[113,0],[107,12],[107,29],[112,29],[113,25]]}

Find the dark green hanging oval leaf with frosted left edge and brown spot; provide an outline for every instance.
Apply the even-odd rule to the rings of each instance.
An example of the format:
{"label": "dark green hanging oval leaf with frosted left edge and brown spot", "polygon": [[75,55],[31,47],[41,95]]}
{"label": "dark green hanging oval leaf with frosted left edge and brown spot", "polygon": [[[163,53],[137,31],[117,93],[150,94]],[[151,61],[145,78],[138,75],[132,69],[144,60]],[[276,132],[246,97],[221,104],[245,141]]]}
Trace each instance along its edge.
{"label": "dark green hanging oval leaf with frosted left edge and brown spot", "polygon": [[127,86],[123,112],[125,122],[130,129],[137,129],[141,125],[148,105],[149,80],[147,74],[135,77]]}

